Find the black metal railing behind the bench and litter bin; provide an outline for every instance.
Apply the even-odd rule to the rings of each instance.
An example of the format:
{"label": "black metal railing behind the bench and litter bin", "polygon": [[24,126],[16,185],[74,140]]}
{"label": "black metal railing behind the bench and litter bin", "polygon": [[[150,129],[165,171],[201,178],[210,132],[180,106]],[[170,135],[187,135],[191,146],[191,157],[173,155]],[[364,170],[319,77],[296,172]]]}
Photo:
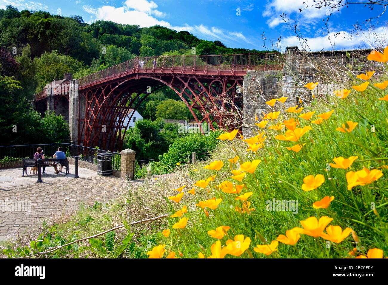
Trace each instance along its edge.
{"label": "black metal railing behind the bench and litter bin", "polygon": [[51,144],[36,144],[36,145],[2,145],[0,146],[0,159],[5,157],[12,158],[32,158],[36,149],[41,147],[45,157],[52,157],[62,147],[62,151],[66,152],[67,157],[75,157],[78,155],[81,161],[87,161],[97,164],[97,154],[101,152],[109,152],[112,154],[112,169],[120,170],[121,154],[109,150],[102,150],[92,147],[84,147],[82,145],[73,145],[71,143],[51,143]]}

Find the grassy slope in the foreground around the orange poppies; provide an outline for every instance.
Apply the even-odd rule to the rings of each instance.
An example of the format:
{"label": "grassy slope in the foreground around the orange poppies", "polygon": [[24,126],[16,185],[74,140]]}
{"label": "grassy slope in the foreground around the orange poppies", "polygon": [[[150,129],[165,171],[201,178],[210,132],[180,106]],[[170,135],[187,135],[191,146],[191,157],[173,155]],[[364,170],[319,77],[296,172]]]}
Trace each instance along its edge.
{"label": "grassy slope in the foreground around the orange poppies", "polygon": [[[356,84],[362,83],[355,79]],[[168,178],[149,178],[137,189],[127,189],[120,199],[106,207],[96,204],[94,207],[84,207],[66,222],[46,226],[49,235],[44,242],[38,244],[40,249],[47,249],[59,242],[65,243],[74,238],[86,237],[104,231],[115,225],[152,218],[160,214],[170,213],[187,207],[183,217],[188,218],[187,225],[181,229],[173,228],[182,217],[165,218],[151,223],[127,226],[90,242],[57,250],[47,257],[134,257],[146,258],[147,252],[161,245],[166,257],[169,252],[175,252],[177,257],[197,258],[199,254],[205,257],[217,256],[218,239],[210,237],[208,231],[219,226],[229,226],[230,229],[220,238],[220,245],[229,252],[225,257],[240,258],[344,258],[366,256],[370,249],[383,250],[388,257],[388,102],[378,100],[385,94],[373,86],[378,80],[376,76],[370,79],[371,84],[364,92],[352,90],[344,99],[327,95],[325,98],[315,98],[310,106],[305,106],[303,113],[315,111],[312,119],[299,118],[303,113],[284,112],[284,106],[277,102],[280,109],[277,119],[268,119],[267,126],[257,128],[257,133],[264,132],[266,139],[262,148],[256,153],[247,152],[248,144],[240,138],[220,142],[213,151],[209,161],[197,162],[195,165],[178,166],[173,176]],[[380,81],[381,82],[381,81]],[[351,85],[351,83],[350,83]],[[350,86],[349,86],[350,88]],[[322,100],[324,99],[324,100]],[[318,119],[317,114],[334,110],[333,114],[321,124],[312,124]],[[287,130],[270,130],[268,126],[282,123],[286,119],[298,119],[300,128],[310,126],[312,129],[301,136],[297,142],[289,142],[275,138],[284,135]],[[336,131],[346,121],[357,122],[351,132]],[[299,152],[286,149],[293,145],[303,145]],[[230,178],[232,169],[238,169],[237,164],[229,163],[228,159],[239,156],[237,164],[260,159],[261,162],[253,173],[246,173],[242,182]],[[333,168],[334,157],[358,158],[347,169]],[[204,169],[213,161],[222,161],[219,170]],[[348,190],[346,173],[359,171],[363,168],[382,171],[383,176],[371,183],[357,185]],[[198,180],[215,175],[206,189],[196,187]],[[322,174],[324,182],[319,187],[304,191],[301,186],[305,177]],[[242,192],[231,194],[222,192],[218,187],[223,181],[244,184]],[[369,182],[369,181],[367,181]],[[178,194],[176,189],[185,185],[185,193],[179,203],[168,199]],[[195,188],[195,195],[188,193]],[[248,198],[251,211],[239,212],[243,209],[243,201],[236,200],[238,195],[252,192]],[[312,204],[325,196],[334,196],[334,200],[326,209],[315,209]],[[222,199],[215,209],[198,206],[200,201]],[[297,211],[269,211],[268,201],[273,200],[298,201]],[[197,205],[197,206],[196,206]],[[275,208],[276,210],[276,208]],[[295,209],[294,209],[295,210]],[[309,217],[332,218],[329,225],[338,225],[342,230],[349,227],[352,233],[336,243],[323,237],[313,237],[305,233],[294,245],[279,242],[277,250],[269,250],[268,244],[277,240],[279,235],[285,235],[287,230],[302,228],[300,221]],[[325,227],[326,228],[326,227]],[[163,230],[170,229],[168,237]],[[43,228],[40,238],[43,237]],[[327,230],[326,230],[327,232]],[[244,250],[244,243],[230,244],[237,235],[243,235],[249,246]],[[228,247],[226,247],[227,244]],[[260,245],[266,245],[261,248]],[[255,250],[256,248],[256,250]],[[357,249],[350,256],[348,253]],[[235,250],[235,255],[231,250]],[[236,249],[240,252],[236,253]],[[266,250],[267,249],[267,250]],[[162,250],[162,252],[163,252]],[[229,250],[229,251],[228,251]],[[26,242],[8,245],[5,254],[23,256],[34,253],[33,247]],[[262,252],[266,252],[262,253]]]}

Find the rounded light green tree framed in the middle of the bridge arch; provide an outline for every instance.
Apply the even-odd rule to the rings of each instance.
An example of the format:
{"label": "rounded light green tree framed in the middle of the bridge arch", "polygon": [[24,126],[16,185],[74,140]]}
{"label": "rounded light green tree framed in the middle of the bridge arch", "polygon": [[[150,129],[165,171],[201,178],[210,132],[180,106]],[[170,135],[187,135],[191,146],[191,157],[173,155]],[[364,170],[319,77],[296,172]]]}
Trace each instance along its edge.
{"label": "rounded light green tree framed in the middle of the bridge arch", "polygon": [[168,99],[161,102],[156,107],[156,117],[158,119],[187,120],[190,111],[182,101]]}

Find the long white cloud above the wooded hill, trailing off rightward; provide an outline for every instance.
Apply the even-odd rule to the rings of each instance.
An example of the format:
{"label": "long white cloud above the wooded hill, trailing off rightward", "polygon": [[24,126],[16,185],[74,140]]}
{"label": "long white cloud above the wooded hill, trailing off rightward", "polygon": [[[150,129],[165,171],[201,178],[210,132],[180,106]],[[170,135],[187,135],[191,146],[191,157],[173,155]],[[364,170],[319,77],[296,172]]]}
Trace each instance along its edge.
{"label": "long white cloud above the wooded hill, trailing off rightward", "polygon": [[[147,0],[127,0],[122,7],[113,7],[105,5],[99,8],[84,5],[83,10],[92,14],[90,21],[104,20],[113,21],[121,24],[139,25],[141,28],[150,27],[154,25],[164,26],[176,31],[188,31],[199,38],[208,40],[220,40],[226,45],[232,43],[241,43],[244,46],[246,43],[253,44],[241,32],[227,31],[218,27],[208,27],[203,24],[189,26],[184,24],[182,26],[173,26],[169,22],[160,20],[158,18],[164,17],[165,13],[157,10],[158,5]],[[253,9],[253,5],[249,5],[246,9]]]}

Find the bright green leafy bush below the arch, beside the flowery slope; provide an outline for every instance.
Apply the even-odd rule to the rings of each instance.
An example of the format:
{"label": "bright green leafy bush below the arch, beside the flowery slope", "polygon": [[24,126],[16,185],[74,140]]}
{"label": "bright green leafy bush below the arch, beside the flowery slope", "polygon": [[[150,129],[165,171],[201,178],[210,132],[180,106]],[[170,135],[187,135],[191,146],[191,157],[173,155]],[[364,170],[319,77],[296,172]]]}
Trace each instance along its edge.
{"label": "bright green leafy bush below the arch, beside the flowery slope", "polygon": [[217,147],[218,141],[215,138],[219,135],[219,131],[210,131],[206,136],[200,133],[181,136],[174,140],[168,152],[159,157],[159,161],[166,167],[173,168],[178,162],[189,161],[192,152],[196,152],[197,160],[206,159]]}

